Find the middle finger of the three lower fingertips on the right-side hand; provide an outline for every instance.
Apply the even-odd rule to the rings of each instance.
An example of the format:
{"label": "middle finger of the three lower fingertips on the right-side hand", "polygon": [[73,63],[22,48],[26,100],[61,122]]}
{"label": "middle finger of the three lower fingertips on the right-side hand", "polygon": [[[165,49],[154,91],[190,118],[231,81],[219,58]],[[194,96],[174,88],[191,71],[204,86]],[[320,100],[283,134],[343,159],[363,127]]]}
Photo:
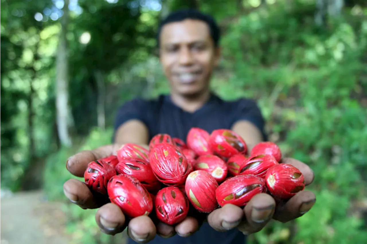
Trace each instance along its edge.
{"label": "middle finger of the three lower fingertips on the right-side hand", "polygon": [[272,219],[275,211],[275,200],[266,193],[252,197],[244,208],[246,221],[238,229],[244,234],[260,231]]}

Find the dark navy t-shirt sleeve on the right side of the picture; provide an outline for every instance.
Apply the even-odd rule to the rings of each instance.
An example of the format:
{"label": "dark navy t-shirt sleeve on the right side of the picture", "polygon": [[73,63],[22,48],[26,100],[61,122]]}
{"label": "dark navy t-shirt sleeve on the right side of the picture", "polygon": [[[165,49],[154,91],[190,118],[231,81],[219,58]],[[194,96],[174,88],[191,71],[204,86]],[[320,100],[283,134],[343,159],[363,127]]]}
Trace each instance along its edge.
{"label": "dark navy t-shirt sleeve on the right side of the picture", "polygon": [[265,119],[255,100],[240,99],[234,104],[231,126],[240,120],[254,124],[261,131],[264,140],[268,140],[268,135],[265,133]]}

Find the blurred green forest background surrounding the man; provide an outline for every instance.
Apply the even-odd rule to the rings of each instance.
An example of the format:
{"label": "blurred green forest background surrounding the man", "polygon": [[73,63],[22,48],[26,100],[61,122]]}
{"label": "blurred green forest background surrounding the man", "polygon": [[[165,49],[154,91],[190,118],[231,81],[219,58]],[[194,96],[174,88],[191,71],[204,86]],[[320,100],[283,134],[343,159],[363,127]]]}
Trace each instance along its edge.
{"label": "blurred green forest background surrounding the man", "polygon": [[365,0],[0,0],[1,191],[62,202],[73,243],[120,243],[68,203],[65,163],[111,142],[126,100],[168,92],[155,32],[185,6],[222,29],[214,91],[257,99],[270,140],[315,171],[313,209],[251,244],[366,243]]}

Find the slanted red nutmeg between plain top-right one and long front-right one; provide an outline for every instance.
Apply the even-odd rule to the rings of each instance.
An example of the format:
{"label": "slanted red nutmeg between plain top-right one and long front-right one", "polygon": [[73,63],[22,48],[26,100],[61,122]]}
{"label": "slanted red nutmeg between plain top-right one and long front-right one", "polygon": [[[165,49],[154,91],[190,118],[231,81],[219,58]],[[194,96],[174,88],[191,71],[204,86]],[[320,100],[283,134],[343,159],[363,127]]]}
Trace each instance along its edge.
{"label": "slanted red nutmeg between plain top-right one and long front-right one", "polygon": [[276,164],[279,163],[272,155],[255,156],[242,162],[238,174],[254,174],[265,178],[268,169]]}

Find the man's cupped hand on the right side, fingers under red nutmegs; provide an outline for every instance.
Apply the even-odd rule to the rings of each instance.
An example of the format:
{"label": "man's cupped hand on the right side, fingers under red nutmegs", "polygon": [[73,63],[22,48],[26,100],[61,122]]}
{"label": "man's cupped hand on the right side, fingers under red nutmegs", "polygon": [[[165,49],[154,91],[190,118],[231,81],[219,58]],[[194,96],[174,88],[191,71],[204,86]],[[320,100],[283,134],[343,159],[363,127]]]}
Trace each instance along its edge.
{"label": "man's cupped hand on the right side, fingers under red nutmegs", "polygon": [[[306,186],[312,183],[314,174],[306,164],[292,158],[284,158],[281,163],[297,167],[305,176]],[[233,204],[226,204],[214,210],[208,215],[208,223],[217,231],[238,228],[244,234],[251,234],[260,231],[271,219],[285,223],[301,217],[315,202],[315,194],[306,190],[278,204],[272,196],[260,193],[252,197],[243,209]]]}

